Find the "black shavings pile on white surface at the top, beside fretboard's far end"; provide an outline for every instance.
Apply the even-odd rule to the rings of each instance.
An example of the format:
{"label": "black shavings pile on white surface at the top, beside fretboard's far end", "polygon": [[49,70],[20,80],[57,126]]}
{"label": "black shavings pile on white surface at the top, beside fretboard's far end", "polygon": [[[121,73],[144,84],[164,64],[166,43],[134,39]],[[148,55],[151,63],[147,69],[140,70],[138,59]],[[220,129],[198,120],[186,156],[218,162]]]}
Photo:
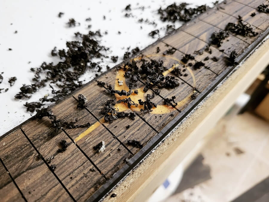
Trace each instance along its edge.
{"label": "black shavings pile on white surface at the top, beside fretboard's far end", "polygon": [[177,5],[173,3],[166,8],[159,8],[158,14],[160,14],[160,19],[170,22],[183,21],[187,22],[193,17],[197,16],[200,13],[204,13],[207,10],[206,5],[201,5],[196,8],[187,8],[187,3],[181,3]]}

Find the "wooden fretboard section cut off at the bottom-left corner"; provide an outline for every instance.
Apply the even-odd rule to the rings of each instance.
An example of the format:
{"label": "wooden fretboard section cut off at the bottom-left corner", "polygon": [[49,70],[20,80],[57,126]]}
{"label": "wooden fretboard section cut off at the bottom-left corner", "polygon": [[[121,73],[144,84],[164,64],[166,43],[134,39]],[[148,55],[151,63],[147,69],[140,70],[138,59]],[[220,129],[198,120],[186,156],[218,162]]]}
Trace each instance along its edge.
{"label": "wooden fretboard section cut off at the bottom-left corner", "polygon": [[19,190],[17,189],[12,179],[7,174],[6,169],[1,163],[0,163],[0,175],[1,175],[1,180],[0,180],[1,201],[3,202],[24,201]]}

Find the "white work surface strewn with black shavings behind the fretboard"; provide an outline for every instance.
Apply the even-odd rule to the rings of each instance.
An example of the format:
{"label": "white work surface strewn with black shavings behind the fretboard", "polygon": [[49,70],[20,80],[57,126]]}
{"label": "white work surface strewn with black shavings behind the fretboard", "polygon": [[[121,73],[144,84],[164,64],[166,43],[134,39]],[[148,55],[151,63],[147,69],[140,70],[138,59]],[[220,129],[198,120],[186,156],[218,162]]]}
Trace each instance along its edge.
{"label": "white work surface strewn with black shavings behind the fretboard", "polygon": [[[33,72],[31,67],[39,67],[43,61],[47,63],[59,61],[58,57],[51,56],[51,50],[56,46],[58,49],[65,48],[66,41],[75,40],[74,33],[79,31],[87,34],[89,30],[96,31],[100,29],[103,37],[100,38],[101,44],[110,47],[107,52],[109,58],[101,65],[106,70],[106,65],[113,67],[123,60],[123,54],[130,49],[138,46],[140,49],[145,48],[157,38],[149,37],[149,32],[155,29],[161,29],[171,22],[161,22],[157,10],[172,4],[175,0],[165,1],[131,1],[131,0],[102,0],[102,1],[52,1],[52,0],[1,0],[0,1],[0,73],[4,72],[3,82],[0,88],[9,88],[7,92],[2,90],[0,93],[0,136],[11,130],[13,127],[29,119],[31,114],[26,111],[23,104],[28,101],[38,101],[46,94],[51,94],[51,88],[46,86],[32,95],[30,99],[16,100],[14,95],[18,93],[22,84],[33,83]],[[188,2],[191,5],[207,4],[213,6],[212,0],[186,0],[176,1]],[[138,4],[137,4],[138,3]],[[126,18],[124,15],[126,5],[131,4],[134,17]],[[137,9],[144,6],[145,9]],[[62,18],[58,13],[63,12]],[[106,19],[103,19],[106,16]],[[90,17],[92,20],[86,22],[85,19]],[[66,22],[74,18],[80,22],[80,26],[69,28]],[[148,25],[138,23],[138,19],[149,19],[155,21],[158,25]],[[88,29],[88,25],[92,25]],[[177,22],[175,27],[182,24]],[[143,29],[140,29],[140,26]],[[14,32],[17,31],[17,34]],[[105,35],[104,32],[108,31]],[[118,31],[121,34],[118,34]],[[164,30],[160,30],[160,37],[165,35]],[[123,48],[124,47],[124,48]],[[12,51],[8,51],[12,48]],[[117,55],[119,60],[112,63],[110,56]],[[28,62],[31,63],[28,63]],[[89,70],[81,80],[84,83],[91,81],[96,71]],[[17,77],[14,86],[10,87],[8,79]]]}

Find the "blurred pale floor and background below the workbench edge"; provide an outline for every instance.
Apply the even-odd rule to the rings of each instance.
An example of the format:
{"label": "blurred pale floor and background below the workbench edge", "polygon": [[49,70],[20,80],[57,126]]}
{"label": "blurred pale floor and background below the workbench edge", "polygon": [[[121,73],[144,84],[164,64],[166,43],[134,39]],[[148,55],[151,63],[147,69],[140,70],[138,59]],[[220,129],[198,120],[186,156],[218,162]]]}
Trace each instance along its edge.
{"label": "blurred pale floor and background below the workbench edge", "polygon": [[268,80],[267,67],[149,201],[269,200]]}

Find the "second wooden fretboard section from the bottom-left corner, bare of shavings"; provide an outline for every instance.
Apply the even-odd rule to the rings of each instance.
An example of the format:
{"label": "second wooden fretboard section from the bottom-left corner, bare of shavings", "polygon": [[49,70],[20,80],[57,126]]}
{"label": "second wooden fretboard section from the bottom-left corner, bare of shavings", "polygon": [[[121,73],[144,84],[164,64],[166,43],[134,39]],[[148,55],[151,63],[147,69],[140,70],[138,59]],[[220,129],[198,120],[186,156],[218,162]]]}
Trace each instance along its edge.
{"label": "second wooden fretboard section from the bottom-left corner, bare of shavings", "polygon": [[[5,143],[5,144],[4,144]],[[0,157],[28,201],[72,201],[20,129],[0,141]]]}

